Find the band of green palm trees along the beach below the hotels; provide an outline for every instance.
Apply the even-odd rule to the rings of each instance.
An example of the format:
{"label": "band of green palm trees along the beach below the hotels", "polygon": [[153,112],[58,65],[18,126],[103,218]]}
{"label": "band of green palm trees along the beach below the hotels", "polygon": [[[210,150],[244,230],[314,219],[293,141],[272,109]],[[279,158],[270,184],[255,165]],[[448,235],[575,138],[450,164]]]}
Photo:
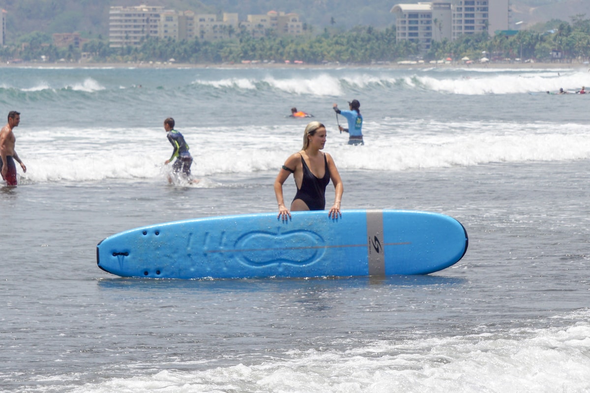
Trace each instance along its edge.
{"label": "band of green palm trees along the beach below the hotels", "polygon": [[586,61],[590,58],[590,19],[584,15],[572,18],[572,23],[550,21],[551,31],[524,30],[516,35],[497,34],[490,37],[486,32],[465,35],[455,41],[432,42],[426,53],[419,50],[416,42],[395,38],[395,28],[375,29],[356,27],[346,32],[324,29],[321,34],[297,37],[278,36],[268,31],[264,38],[253,38],[246,31],[234,38],[219,41],[175,41],[150,37],[137,47],[111,48],[106,39],[95,38],[83,47],[57,48],[51,44],[48,34],[34,32],[21,38],[18,44],[0,49],[3,61],[78,61],[86,52],[93,62],[166,62],[174,59],[185,63],[222,63],[242,61],[303,61],[309,64],[341,62],[346,64],[369,64],[371,62],[394,62],[423,58],[454,60],[464,56],[477,59],[482,52],[492,59],[522,58],[536,61],[552,61],[560,52],[560,61]]}

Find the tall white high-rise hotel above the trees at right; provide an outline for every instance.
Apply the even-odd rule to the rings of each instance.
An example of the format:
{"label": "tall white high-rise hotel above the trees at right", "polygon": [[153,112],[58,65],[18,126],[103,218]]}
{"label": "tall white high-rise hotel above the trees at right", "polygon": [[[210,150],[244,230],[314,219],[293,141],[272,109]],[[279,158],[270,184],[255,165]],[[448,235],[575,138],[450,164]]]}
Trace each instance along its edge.
{"label": "tall white high-rise hotel above the trees at right", "polygon": [[432,41],[454,41],[486,31],[490,36],[509,28],[509,0],[450,0],[396,4],[396,39],[418,42],[422,52]]}

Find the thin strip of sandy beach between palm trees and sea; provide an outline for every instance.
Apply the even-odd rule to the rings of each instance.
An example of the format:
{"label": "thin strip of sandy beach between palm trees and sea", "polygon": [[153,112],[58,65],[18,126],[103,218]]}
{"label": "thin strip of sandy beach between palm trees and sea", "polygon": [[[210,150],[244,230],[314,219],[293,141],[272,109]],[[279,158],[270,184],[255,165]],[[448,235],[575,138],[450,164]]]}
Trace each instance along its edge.
{"label": "thin strip of sandy beach between palm trees and sea", "polygon": [[569,69],[584,68],[590,71],[590,64],[581,62],[486,62],[486,63],[471,63],[464,64],[463,62],[449,62],[444,64],[431,63],[415,63],[415,64],[398,64],[396,62],[379,62],[375,64],[341,64],[341,63],[326,63],[326,64],[307,64],[307,63],[270,63],[270,62],[254,62],[254,63],[176,63],[176,62],[19,62],[15,64],[2,64],[5,68],[293,68],[293,69],[308,69],[308,68],[325,68],[326,70],[335,68],[384,68],[394,70],[412,70],[414,68],[474,68],[474,69],[494,69],[494,68],[510,68],[514,70],[527,69]]}

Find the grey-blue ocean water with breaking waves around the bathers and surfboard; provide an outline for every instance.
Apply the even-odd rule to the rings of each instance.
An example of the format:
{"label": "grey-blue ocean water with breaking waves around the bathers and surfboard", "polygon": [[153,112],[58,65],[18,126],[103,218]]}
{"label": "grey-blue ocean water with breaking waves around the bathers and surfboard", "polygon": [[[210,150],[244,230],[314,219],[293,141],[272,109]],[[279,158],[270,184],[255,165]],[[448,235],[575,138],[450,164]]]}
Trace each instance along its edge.
{"label": "grey-blue ocean water with breaking waves around the bathers and surfboard", "polygon": [[[0,392],[589,391],[590,95],[545,93],[582,85],[585,68],[0,68],[28,169],[0,188]],[[362,147],[332,111],[353,98]],[[276,211],[293,106],[326,124],[343,209],[453,216],[463,259],[387,278],[96,266],[122,230]],[[170,116],[198,184],[168,183]]]}

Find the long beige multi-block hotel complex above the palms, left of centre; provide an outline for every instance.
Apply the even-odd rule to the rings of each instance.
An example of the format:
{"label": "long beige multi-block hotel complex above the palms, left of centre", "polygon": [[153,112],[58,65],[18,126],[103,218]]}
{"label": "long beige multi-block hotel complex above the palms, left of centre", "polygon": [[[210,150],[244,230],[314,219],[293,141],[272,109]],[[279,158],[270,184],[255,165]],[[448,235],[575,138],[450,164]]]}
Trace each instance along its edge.
{"label": "long beige multi-block hotel complex above the palms, left of centre", "polygon": [[216,14],[195,14],[162,6],[112,6],[109,10],[109,41],[113,48],[138,46],[148,37],[215,41],[232,38],[242,29],[256,38],[271,30],[277,35],[303,34],[298,14],[277,11],[248,15],[240,21],[235,13],[224,12],[219,18]]}

